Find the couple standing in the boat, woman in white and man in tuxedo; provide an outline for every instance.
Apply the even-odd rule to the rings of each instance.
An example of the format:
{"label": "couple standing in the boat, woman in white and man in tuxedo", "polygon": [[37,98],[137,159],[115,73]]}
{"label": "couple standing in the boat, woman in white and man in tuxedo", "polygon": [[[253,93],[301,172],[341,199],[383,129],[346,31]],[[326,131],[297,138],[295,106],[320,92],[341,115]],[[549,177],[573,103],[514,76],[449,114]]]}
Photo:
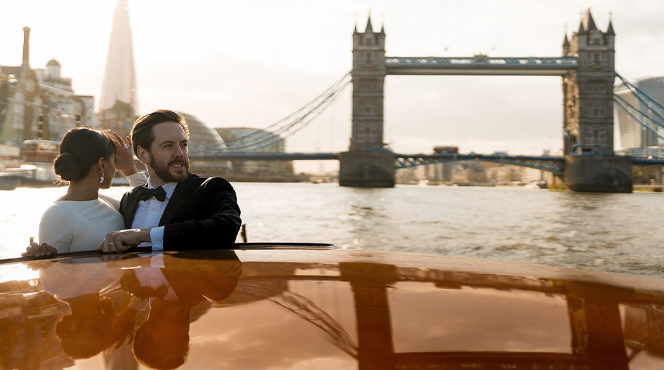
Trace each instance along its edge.
{"label": "couple standing in the boat, woman in white and man in tuxedo", "polygon": [[[221,177],[189,172],[188,138],[184,117],[170,110],[138,119],[126,147],[117,134],[112,139],[84,127],[67,132],[54,171],[69,187],[44,212],[40,244],[32,243],[23,256],[95,248],[116,253],[136,245],[153,250],[233,245],[241,223],[235,191]],[[116,168],[132,186],[146,181],[133,164],[130,145],[148,170],[146,186],[119,202],[99,195],[100,188],[110,187]]]}

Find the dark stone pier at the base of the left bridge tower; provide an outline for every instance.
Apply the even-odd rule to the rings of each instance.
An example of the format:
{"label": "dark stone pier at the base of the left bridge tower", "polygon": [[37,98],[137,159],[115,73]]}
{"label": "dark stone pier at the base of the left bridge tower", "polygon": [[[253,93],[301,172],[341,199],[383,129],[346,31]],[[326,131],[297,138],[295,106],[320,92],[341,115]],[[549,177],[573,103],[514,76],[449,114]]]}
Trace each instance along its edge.
{"label": "dark stone pier at the base of the left bridge tower", "polygon": [[387,150],[351,150],[339,153],[339,185],[357,188],[394,188],[396,154]]}

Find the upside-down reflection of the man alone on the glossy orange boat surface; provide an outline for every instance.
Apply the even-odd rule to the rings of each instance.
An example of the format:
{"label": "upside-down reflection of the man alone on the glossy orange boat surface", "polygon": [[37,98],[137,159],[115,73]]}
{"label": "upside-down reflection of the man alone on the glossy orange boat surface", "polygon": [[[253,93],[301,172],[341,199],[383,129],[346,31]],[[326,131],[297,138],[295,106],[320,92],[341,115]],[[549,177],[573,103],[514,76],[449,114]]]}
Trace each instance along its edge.
{"label": "upside-down reflection of the man alone on the glossy orange boat surface", "polygon": [[242,264],[232,251],[216,251],[205,258],[194,264],[186,256],[158,255],[147,262],[149,268],[123,266],[123,290],[150,304],[149,316],[133,338],[133,354],[144,365],[157,369],[182,365],[189,353],[192,308],[203,301],[222,301],[238,285]]}

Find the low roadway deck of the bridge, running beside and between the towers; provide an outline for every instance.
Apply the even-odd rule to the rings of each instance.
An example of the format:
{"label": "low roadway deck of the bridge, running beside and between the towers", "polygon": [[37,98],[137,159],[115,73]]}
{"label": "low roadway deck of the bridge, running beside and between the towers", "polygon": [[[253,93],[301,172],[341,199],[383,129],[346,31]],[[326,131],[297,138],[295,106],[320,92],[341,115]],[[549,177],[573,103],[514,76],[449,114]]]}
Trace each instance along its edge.
{"label": "low roadway deck of the bridge, running beside and between the towers", "polygon": [[[455,162],[459,160],[483,160],[529,167],[541,171],[563,173],[565,160],[561,156],[507,156],[501,154],[477,153],[432,153],[402,154],[394,153],[395,169],[421,166],[424,164]],[[281,153],[281,152],[243,152],[218,151],[210,153],[190,153],[190,160],[339,160],[340,153]],[[633,157],[634,166],[662,166],[664,158]]]}

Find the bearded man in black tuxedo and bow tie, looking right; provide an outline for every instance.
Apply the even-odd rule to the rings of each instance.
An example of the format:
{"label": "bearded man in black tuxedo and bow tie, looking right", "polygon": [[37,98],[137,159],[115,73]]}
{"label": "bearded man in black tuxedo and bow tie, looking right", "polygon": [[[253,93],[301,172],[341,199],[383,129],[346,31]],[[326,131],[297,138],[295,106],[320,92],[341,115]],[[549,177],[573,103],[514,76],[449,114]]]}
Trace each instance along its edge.
{"label": "bearded man in black tuxedo and bow tie, looking right", "polygon": [[97,248],[120,253],[137,245],[157,250],[230,247],[242,223],[235,191],[221,177],[189,172],[189,129],[184,117],[157,110],[136,121],[133,150],[148,170],[147,186],[120,201],[127,230],[110,232]]}

